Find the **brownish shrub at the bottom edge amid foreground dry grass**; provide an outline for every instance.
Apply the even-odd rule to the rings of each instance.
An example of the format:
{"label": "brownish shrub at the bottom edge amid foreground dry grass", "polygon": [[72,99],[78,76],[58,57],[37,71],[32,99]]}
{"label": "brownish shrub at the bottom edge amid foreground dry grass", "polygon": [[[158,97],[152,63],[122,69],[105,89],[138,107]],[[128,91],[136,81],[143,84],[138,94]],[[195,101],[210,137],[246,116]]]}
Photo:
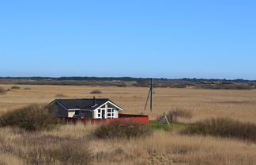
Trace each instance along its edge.
{"label": "brownish shrub at the bottom edge amid foreground dry grass", "polygon": [[92,153],[88,148],[81,148],[81,145],[72,143],[50,150],[49,156],[64,164],[90,164],[92,161]]}

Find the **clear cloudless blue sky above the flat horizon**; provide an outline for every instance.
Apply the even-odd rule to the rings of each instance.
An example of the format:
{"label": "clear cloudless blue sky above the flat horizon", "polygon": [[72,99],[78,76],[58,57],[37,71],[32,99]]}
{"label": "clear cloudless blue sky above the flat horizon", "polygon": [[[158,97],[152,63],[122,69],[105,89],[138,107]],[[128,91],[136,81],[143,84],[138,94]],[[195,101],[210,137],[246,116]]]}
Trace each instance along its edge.
{"label": "clear cloudless blue sky above the flat horizon", "polygon": [[0,76],[256,79],[256,2],[0,2]]}

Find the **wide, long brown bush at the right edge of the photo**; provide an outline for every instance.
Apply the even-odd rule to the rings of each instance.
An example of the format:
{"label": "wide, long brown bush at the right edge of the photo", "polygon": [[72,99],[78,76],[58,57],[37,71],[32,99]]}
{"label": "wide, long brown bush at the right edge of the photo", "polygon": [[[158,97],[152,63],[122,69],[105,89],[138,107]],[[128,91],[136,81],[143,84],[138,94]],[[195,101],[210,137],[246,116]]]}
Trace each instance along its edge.
{"label": "wide, long brown bush at the right edge of the photo", "polygon": [[228,118],[205,119],[186,127],[183,134],[202,134],[256,141],[256,124]]}

